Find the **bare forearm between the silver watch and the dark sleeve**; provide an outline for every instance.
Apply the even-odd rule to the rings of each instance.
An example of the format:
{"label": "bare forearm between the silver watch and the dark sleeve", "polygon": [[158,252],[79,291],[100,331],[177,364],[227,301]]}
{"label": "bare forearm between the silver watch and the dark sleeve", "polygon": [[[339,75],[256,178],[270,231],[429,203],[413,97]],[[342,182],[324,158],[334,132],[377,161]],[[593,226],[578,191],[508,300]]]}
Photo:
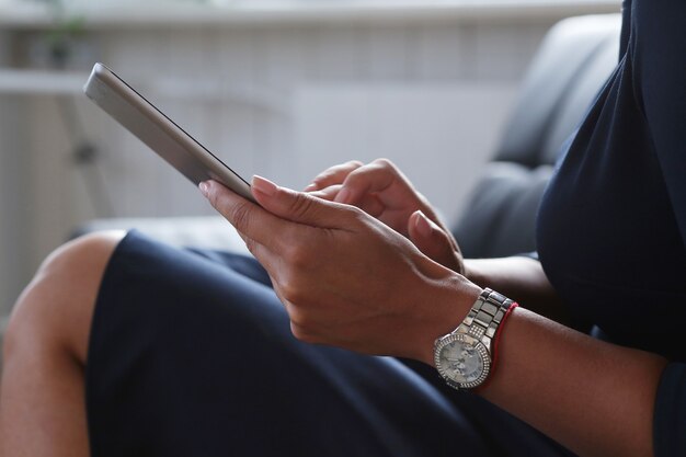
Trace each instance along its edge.
{"label": "bare forearm between the silver watch and the dark sleeve", "polygon": [[666,361],[516,309],[481,392],[582,456],[650,456]]}

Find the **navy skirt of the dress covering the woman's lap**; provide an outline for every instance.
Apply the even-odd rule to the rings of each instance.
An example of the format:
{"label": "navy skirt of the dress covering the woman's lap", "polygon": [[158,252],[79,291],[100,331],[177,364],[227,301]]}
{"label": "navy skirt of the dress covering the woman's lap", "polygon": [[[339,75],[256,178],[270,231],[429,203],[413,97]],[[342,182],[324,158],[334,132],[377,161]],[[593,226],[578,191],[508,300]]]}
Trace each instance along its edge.
{"label": "navy skirt of the dress covering the woman's lap", "polygon": [[297,341],[249,258],[129,233],[87,364],[92,455],[569,455],[428,367]]}

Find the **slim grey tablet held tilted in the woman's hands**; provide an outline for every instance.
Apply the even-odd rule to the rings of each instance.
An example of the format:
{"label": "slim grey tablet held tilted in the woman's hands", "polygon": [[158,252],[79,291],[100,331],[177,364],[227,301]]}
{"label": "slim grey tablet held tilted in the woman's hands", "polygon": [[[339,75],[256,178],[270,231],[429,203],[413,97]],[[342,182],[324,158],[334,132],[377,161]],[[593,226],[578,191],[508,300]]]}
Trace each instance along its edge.
{"label": "slim grey tablet held tilted in the woman's hands", "polygon": [[83,92],[193,184],[215,180],[256,203],[245,180],[104,65],[95,64]]}

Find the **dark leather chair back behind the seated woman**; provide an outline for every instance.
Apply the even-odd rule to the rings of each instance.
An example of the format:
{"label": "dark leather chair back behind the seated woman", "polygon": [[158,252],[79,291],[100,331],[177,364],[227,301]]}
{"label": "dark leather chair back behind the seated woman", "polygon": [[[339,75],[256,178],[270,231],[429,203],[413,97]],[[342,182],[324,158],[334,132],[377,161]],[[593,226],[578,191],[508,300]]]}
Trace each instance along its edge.
{"label": "dark leather chair back behind the seated woman", "polygon": [[619,14],[560,21],[546,35],[494,158],[454,228],[466,258],[536,250],[536,212],[570,139],[619,56]]}

